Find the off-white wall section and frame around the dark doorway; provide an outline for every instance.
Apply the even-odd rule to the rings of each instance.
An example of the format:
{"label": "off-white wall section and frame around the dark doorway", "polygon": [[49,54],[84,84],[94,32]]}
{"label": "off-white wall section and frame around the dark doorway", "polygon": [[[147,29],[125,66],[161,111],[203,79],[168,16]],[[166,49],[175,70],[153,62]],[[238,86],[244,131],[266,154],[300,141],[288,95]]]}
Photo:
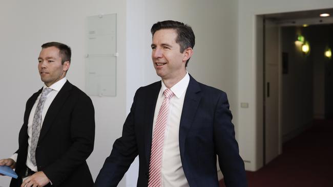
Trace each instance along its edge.
{"label": "off-white wall section and frame around the dark doorway", "polygon": [[256,16],[259,14],[293,12],[312,9],[327,9],[333,7],[331,0],[238,0],[238,101],[248,102],[249,108],[238,109],[238,136],[247,170],[255,171],[262,166],[262,142],[257,137],[262,135],[262,106],[257,105],[258,86],[262,80],[257,79],[257,61],[255,56]]}

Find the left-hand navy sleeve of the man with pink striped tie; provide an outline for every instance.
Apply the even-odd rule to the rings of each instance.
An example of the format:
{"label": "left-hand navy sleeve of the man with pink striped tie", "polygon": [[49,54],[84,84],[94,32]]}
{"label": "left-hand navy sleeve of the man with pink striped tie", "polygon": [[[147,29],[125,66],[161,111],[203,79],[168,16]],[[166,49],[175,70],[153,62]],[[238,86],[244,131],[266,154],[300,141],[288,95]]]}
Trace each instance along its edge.
{"label": "left-hand navy sleeve of the man with pink striped tie", "polygon": [[134,120],[137,95],[138,91],[135,93],[131,111],[124,122],[122,135],[114,142],[110,156],[106,158],[99,171],[95,186],[117,186],[138,155]]}

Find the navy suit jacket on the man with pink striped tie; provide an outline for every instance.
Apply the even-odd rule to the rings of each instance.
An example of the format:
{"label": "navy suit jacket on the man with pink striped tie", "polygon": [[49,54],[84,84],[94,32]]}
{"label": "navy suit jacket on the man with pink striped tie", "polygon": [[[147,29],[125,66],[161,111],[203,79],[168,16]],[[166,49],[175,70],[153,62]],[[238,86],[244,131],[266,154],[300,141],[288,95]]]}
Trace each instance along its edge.
{"label": "navy suit jacket on the man with pink striped tie", "polygon": [[[122,136],[115,141],[95,186],[117,186],[137,155],[137,186],[148,185],[153,118],[160,88],[159,81],[136,91]],[[216,155],[226,186],[247,186],[231,120],[225,92],[190,76],[179,126],[181,163],[190,186],[219,186]]]}

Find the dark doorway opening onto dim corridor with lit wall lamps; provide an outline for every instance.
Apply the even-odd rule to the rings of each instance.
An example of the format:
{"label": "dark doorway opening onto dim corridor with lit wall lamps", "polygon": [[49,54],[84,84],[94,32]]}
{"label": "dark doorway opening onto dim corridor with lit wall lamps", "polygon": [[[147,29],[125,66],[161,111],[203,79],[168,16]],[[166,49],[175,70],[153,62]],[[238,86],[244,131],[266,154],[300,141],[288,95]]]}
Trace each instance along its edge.
{"label": "dark doorway opening onto dim corridor with lit wall lamps", "polygon": [[[333,13],[333,9],[257,17],[257,20],[261,20],[258,21],[257,29],[262,29],[263,36],[263,83],[259,84],[263,90],[263,165],[282,154],[283,143],[301,133],[314,118],[318,118],[318,108],[324,108],[324,114],[321,113],[324,118],[331,115],[330,109],[325,108],[325,103],[330,103],[328,94],[332,92],[331,63],[324,62],[329,60],[324,57],[321,62],[326,65],[314,63],[314,59],[318,59],[314,54],[319,56],[320,52],[317,51],[323,48],[323,44],[319,47],[319,41],[310,41],[316,32],[329,32],[333,17],[319,17],[323,12]],[[306,39],[313,48],[307,54],[301,51],[302,44],[298,46],[295,43],[302,33],[308,33]],[[332,42],[327,43],[325,48],[332,48]],[[257,49],[260,48],[257,46]],[[319,71],[324,71],[324,74]],[[324,102],[320,100],[323,98]]]}

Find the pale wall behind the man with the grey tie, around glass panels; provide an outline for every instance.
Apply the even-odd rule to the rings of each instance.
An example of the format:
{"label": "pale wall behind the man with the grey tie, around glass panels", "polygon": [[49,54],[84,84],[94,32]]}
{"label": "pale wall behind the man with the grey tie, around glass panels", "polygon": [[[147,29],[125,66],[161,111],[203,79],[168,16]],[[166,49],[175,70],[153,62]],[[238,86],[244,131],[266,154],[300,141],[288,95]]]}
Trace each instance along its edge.
{"label": "pale wall behind the man with the grey tie, around glass panels", "polygon": [[[0,6],[0,158],[18,148],[18,131],[23,124],[25,103],[43,83],[37,71],[40,45],[64,42],[72,48],[67,78],[85,90],[86,17],[117,13],[117,96],[91,97],[95,106],[95,148],[88,164],[95,179],[126,118],[126,1],[17,1],[2,0]],[[0,186],[9,186],[0,177]]]}

